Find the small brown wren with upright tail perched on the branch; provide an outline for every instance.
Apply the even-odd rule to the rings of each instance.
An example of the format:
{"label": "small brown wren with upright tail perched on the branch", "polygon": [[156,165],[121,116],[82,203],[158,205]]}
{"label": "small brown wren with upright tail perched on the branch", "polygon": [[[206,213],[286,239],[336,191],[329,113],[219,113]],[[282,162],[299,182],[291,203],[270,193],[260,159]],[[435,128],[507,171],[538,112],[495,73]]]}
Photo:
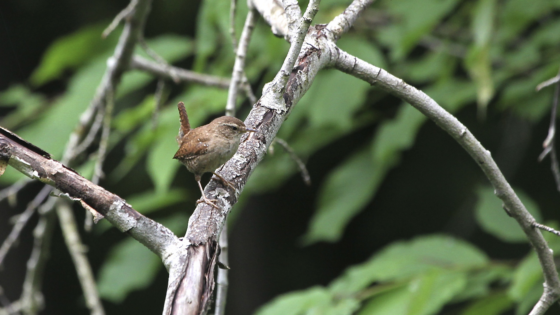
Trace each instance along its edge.
{"label": "small brown wren with upright tail perched on the branch", "polygon": [[194,173],[194,179],[197,180],[198,188],[202,193],[202,200],[198,200],[197,203],[206,202],[208,205],[218,208],[213,203],[217,200],[204,196],[200,178],[204,173],[213,173],[226,186],[235,189],[233,183],[214,171],[234,156],[241,142],[241,136],[245,132],[255,132],[256,130],[246,128],[242,121],[231,116],[218,117],[209,124],[190,129],[185,104],[180,101],[177,107],[181,127],[179,136],[177,136],[179,150],[173,158],[181,161],[189,172]]}

